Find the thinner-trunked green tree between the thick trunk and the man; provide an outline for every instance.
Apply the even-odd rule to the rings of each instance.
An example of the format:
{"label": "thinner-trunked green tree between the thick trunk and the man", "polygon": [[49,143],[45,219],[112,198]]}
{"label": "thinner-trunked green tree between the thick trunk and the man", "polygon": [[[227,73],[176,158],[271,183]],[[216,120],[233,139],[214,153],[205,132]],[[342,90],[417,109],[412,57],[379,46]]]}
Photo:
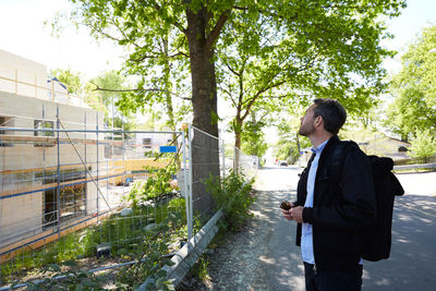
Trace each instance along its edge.
{"label": "thinner-trunked green tree between the thick trunk and the man", "polygon": [[402,2],[376,9],[348,1],[261,3],[233,7],[216,46],[219,93],[235,109],[235,147],[254,108],[274,114],[290,100],[317,96],[337,98],[363,116],[377,104],[375,96],[386,88],[379,64],[391,53],[378,46],[386,35],[376,15],[396,15]]}

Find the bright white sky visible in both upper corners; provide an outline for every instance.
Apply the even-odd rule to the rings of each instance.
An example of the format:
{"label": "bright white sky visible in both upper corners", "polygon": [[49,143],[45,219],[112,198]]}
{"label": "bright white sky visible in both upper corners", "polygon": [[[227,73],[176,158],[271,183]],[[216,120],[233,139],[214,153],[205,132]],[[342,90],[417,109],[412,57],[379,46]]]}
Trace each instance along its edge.
{"label": "bright white sky visible in both upper corners", "polygon": [[[85,78],[119,68],[123,51],[110,41],[97,43],[85,28],[70,26],[61,37],[51,36],[51,28],[44,22],[70,10],[66,0],[0,0],[0,49],[44,63],[49,70],[71,68]],[[405,50],[422,27],[436,24],[435,11],[436,0],[409,0],[402,14],[387,22],[395,38],[383,45]],[[400,64],[387,60],[385,66],[395,72]]]}

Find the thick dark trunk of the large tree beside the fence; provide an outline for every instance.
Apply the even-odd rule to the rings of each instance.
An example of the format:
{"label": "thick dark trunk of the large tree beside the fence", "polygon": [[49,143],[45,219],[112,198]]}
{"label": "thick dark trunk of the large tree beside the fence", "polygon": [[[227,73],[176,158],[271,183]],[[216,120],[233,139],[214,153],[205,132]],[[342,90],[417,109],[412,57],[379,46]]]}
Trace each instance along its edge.
{"label": "thick dark trunk of the large tree beside the fence", "polygon": [[186,10],[187,43],[190,48],[192,105],[194,110],[193,125],[213,138],[194,130],[192,141],[192,196],[193,208],[201,215],[209,215],[213,210],[213,199],[206,193],[203,181],[209,174],[219,175],[218,153],[218,116],[217,84],[215,76],[214,49],[207,46],[206,25],[208,22],[206,9],[196,13]]}

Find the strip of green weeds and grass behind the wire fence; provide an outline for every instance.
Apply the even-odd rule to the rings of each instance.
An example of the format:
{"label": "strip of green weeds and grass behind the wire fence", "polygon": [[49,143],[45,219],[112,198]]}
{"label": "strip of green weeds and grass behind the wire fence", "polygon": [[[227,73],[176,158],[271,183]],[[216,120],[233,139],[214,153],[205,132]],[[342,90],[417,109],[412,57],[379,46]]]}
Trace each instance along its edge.
{"label": "strip of green weeds and grass behind the wire fence", "polygon": [[[1,265],[1,282],[12,283],[38,274],[50,264],[81,260],[96,256],[96,246],[110,245],[110,256],[131,259],[144,244],[144,238],[168,223],[169,240],[181,240],[186,234],[184,198],[165,199],[133,208],[130,216],[114,214],[87,229],[72,232],[38,250],[23,250]],[[104,259],[104,258],[102,258]]]}

